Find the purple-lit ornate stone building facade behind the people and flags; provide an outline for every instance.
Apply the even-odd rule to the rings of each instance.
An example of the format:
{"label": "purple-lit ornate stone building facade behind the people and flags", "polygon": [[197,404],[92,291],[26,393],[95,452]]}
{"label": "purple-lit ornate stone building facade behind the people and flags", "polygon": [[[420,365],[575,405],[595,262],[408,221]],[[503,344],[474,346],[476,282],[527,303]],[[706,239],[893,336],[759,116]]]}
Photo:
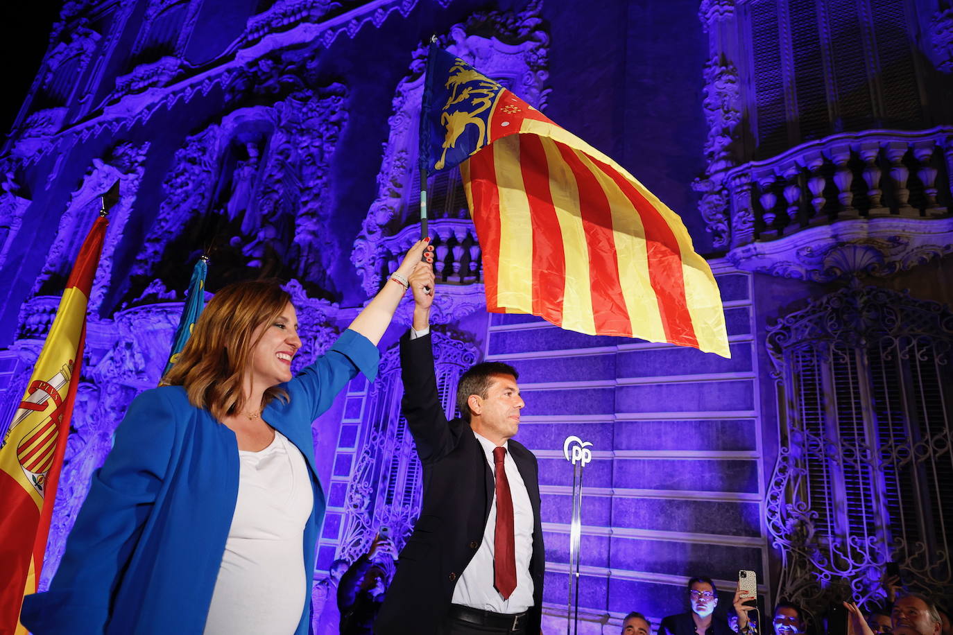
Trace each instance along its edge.
{"label": "purple-lit ornate stone building facade behind the people and flags", "polygon": [[[915,495],[926,501],[918,519],[953,525],[948,492],[910,485],[953,476],[929,472],[953,438],[936,406],[953,403],[953,13],[936,0],[65,3],[0,154],[0,427],[97,195],[119,179],[120,201],[44,580],[113,428],[158,380],[204,249],[211,292],[258,270],[292,280],[309,334],[302,364],[395,266],[416,231],[420,46],[432,33],[676,209],[725,304],[730,360],[488,315],[458,175],[431,184],[438,379],[450,410],[474,361],[521,373],[519,439],[540,465],[546,631],[564,627],[569,434],[594,443],[584,632],[618,632],[630,610],[653,622],[685,610],[684,582],[699,573],[719,584],[721,608],[740,568],[758,573],[763,605],[786,595],[814,610],[841,576],[876,599],[872,576],[891,559],[948,587],[949,560],[916,555],[943,546],[929,523],[894,547],[913,522],[898,510]],[[314,423],[329,502],[315,575],[361,553],[377,526],[399,543],[413,525],[419,468],[395,356],[410,309],[381,344],[375,383],[356,379]],[[889,342],[877,349],[886,356],[869,342]],[[882,388],[880,376],[912,383],[898,392],[900,379]],[[918,387],[922,402],[896,407]],[[818,395],[834,406],[812,409]],[[832,435],[843,455],[901,463],[846,469],[802,443]],[[923,460],[902,463],[904,443]],[[824,474],[842,486],[820,486]],[[867,517],[881,520],[864,533]],[[837,566],[812,551],[859,535]]]}

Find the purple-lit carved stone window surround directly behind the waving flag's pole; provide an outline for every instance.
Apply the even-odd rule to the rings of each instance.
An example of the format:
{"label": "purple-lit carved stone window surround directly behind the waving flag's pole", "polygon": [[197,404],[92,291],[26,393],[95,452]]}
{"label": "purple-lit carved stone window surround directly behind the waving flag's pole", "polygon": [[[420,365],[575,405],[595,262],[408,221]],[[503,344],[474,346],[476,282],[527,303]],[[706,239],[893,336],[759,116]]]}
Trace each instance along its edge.
{"label": "purple-lit carved stone window surround directly behind the waving flag's pole", "polygon": [[[495,37],[482,33],[493,33]],[[539,2],[530,3],[520,13],[474,13],[466,23],[455,25],[437,41],[477,69],[511,81],[513,91],[538,109],[545,107],[549,36],[542,30]],[[426,51],[422,45],[415,51],[410,74],[397,84],[393,114],[388,119],[390,136],[377,174],[377,198],[351,253],[351,262],[369,295],[380,286],[384,263],[392,257],[385,252],[386,239],[404,228],[409,206],[416,205],[408,200],[407,185],[418,178],[417,151],[411,140],[416,139]]]}

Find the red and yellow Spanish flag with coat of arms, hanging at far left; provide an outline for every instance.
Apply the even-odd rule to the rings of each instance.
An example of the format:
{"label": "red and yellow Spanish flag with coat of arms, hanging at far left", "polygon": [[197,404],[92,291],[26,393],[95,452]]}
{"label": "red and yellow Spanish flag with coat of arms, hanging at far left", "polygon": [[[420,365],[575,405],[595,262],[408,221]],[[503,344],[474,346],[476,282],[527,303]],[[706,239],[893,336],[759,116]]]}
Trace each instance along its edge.
{"label": "red and yellow Spanish flag with coat of arms, hanging at far left", "polygon": [[20,605],[36,592],[43,566],[107,224],[105,216],[97,218],[79,250],[26,393],[0,441],[0,632],[27,632],[18,624]]}

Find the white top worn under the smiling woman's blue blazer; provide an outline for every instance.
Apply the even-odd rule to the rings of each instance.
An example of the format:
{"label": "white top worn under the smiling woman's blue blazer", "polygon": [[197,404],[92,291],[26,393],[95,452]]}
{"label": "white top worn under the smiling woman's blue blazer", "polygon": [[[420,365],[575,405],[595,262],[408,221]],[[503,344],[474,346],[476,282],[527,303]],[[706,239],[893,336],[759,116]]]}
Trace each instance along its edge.
{"label": "white top worn under the smiling woman's blue blazer", "polygon": [[314,506],[308,466],[277,430],[270,446],[238,455],[238,499],[205,633],[288,635],[308,588],[303,532]]}

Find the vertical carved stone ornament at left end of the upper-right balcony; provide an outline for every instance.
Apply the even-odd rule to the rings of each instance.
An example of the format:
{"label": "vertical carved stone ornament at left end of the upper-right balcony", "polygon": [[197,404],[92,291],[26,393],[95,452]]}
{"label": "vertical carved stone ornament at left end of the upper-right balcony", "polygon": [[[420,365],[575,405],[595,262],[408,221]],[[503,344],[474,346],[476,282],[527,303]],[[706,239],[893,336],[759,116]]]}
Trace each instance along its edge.
{"label": "vertical carved stone ornament at left end of the upper-right balcony", "polygon": [[701,193],[701,215],[712,234],[712,245],[724,248],[731,236],[730,194],[724,180],[726,170],[735,166],[731,149],[741,122],[740,78],[735,65],[718,55],[705,64],[704,79],[701,108],[708,122],[704,145],[707,167],[705,176],[696,179],[692,188]]}

